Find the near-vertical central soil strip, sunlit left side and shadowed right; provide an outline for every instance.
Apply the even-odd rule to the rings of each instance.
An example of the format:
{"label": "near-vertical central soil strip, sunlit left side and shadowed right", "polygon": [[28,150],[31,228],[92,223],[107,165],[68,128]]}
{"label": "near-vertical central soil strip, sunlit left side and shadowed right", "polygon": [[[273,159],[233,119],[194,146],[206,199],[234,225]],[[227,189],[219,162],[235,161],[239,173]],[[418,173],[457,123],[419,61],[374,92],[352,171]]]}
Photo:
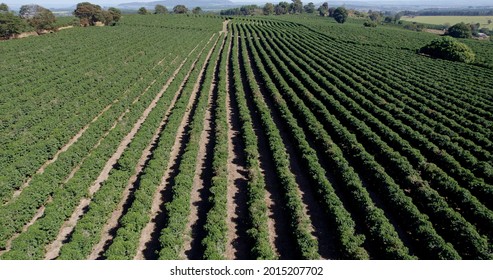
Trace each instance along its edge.
{"label": "near-vertical central soil strip, sunlit left side and shadowed right", "polygon": [[[229,58],[232,43],[228,46]],[[226,119],[228,122],[228,191],[227,217],[228,234],[226,243],[226,259],[249,259],[248,246],[248,170],[244,154],[245,144],[240,134],[240,120],[238,107],[234,100],[234,91],[229,59],[226,61]]]}

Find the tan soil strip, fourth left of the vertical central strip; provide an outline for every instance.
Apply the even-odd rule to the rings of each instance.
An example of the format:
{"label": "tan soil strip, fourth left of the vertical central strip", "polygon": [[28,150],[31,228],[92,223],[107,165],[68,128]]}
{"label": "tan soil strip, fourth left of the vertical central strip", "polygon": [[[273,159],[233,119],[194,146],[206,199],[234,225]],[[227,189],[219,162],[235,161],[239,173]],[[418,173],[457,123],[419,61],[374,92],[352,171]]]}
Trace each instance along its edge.
{"label": "tan soil strip, fourth left of the vertical central strip", "polygon": [[[145,91],[147,91],[149,88],[147,88]],[[81,200],[79,203],[79,206],[77,206],[76,210],[70,217],[68,221],[64,223],[62,226],[62,229],[60,230],[57,238],[53,243],[47,246],[47,253],[45,255],[46,259],[53,259],[56,258],[60,252],[60,248],[62,246],[63,241],[67,238],[67,236],[70,234],[70,232],[73,231],[77,221],[79,218],[83,215],[84,209],[89,205],[91,202],[91,198],[96,193],[99,188],[101,187],[101,184],[108,178],[108,175],[113,169],[113,166],[116,164],[117,160],[121,157],[123,154],[123,151],[127,148],[128,144],[132,141],[134,138],[135,134],[137,131],[139,131],[140,126],[144,121],[147,119],[147,116],[149,113],[156,107],[157,102],[159,99],[162,97],[164,93],[164,90],[161,90],[156,97],[152,100],[151,104],[144,110],[142,116],[139,118],[139,120],[134,124],[132,130],[123,138],[122,142],[118,146],[117,150],[115,153],[111,156],[110,159],[106,162],[106,165],[104,166],[103,170],[99,174],[98,178],[96,181],[91,185],[89,188],[89,198],[84,198]],[[139,97],[137,97],[139,98]]]}

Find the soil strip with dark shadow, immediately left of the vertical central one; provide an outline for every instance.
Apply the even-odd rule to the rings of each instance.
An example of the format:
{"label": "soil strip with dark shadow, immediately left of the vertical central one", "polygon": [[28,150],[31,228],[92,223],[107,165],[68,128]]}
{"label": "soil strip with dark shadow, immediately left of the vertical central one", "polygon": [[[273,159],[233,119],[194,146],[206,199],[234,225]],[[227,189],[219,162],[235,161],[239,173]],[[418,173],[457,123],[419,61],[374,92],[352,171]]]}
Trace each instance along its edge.
{"label": "soil strip with dark shadow, immediately left of the vertical central one", "polygon": [[[223,41],[220,47],[220,53],[224,48],[226,40],[223,37]],[[212,52],[211,52],[212,53]],[[218,56],[219,59],[219,56]],[[209,63],[211,63],[209,61]],[[207,65],[206,63],[205,65]],[[214,78],[212,85],[208,93],[207,98],[207,110],[204,116],[204,127],[200,134],[199,151],[197,154],[195,175],[193,179],[192,192],[190,196],[190,215],[188,216],[188,223],[185,229],[184,246],[182,256],[186,256],[187,259],[200,259],[202,256],[201,244],[202,240],[200,236],[203,235],[203,226],[207,218],[207,210],[205,209],[208,201],[208,190],[211,186],[212,178],[212,155],[214,148],[214,124],[212,123],[212,110],[214,107],[214,99],[217,98],[217,69],[218,60],[214,62]],[[205,68],[204,68],[205,70]],[[202,73],[201,73],[202,74]],[[202,85],[202,80],[205,79],[202,76],[201,81],[195,84],[194,90],[199,91],[199,87]],[[214,96],[216,95],[216,96]]]}

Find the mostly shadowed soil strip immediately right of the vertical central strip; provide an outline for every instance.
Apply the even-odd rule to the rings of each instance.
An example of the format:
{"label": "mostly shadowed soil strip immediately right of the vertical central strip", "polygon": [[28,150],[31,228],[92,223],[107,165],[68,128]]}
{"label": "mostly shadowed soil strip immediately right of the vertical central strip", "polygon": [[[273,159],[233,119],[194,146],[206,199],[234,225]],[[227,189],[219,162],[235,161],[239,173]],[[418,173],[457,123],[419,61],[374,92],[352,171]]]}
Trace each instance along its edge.
{"label": "mostly shadowed soil strip immediately right of the vertical central strip", "polygon": [[[239,40],[239,38],[237,38],[237,40]],[[238,52],[241,53],[240,44],[238,44]],[[239,55],[239,53],[236,55]],[[243,89],[245,91],[245,95],[247,96],[247,106],[253,120],[253,129],[258,139],[260,170],[264,175],[265,185],[267,187],[265,203],[267,204],[267,215],[269,217],[267,221],[269,240],[272,248],[274,248],[275,253],[280,259],[296,259],[296,253],[292,249],[294,240],[292,235],[288,234],[291,232],[291,229],[289,227],[289,218],[286,215],[286,211],[283,206],[282,187],[280,186],[276,175],[272,155],[269,152],[270,148],[267,141],[267,136],[261,127],[260,116],[256,113],[255,106],[252,102],[252,92],[247,83],[248,80],[244,66],[245,62],[241,59],[241,57],[239,61]]]}

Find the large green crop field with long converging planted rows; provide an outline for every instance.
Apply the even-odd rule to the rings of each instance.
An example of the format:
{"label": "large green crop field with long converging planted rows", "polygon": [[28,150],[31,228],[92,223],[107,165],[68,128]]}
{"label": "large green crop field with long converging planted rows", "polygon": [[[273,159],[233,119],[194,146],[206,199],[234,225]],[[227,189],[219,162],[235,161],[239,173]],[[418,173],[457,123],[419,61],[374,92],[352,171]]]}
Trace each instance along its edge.
{"label": "large green crop field with long converging planted rows", "polygon": [[493,70],[324,24],[1,42],[0,258],[492,259]]}

